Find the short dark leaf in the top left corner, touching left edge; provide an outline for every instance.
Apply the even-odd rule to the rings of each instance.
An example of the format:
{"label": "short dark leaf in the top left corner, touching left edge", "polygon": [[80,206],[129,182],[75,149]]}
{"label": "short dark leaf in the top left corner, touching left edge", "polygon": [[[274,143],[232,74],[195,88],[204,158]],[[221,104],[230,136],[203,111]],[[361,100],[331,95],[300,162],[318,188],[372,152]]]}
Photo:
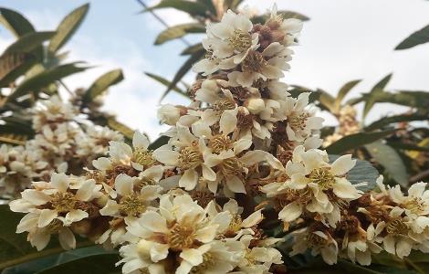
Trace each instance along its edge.
{"label": "short dark leaf in the top left corner, touching left edge", "polygon": [[18,12],[2,7],[0,8],[0,23],[9,29],[16,37],[36,31],[25,16]]}

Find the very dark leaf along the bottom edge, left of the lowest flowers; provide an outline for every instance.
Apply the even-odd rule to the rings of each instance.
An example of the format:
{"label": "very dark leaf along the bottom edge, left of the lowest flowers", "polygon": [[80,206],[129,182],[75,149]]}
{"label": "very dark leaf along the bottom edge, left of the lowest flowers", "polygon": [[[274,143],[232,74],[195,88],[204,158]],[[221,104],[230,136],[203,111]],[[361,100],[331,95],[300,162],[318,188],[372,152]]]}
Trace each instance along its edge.
{"label": "very dark leaf along the bottom edge, left of the lowest flowers", "polygon": [[[95,254],[84,258],[77,258],[58,266],[40,270],[36,274],[114,274],[120,273],[120,268],[115,267],[115,263],[120,260],[118,254]],[[84,272],[82,272],[82,270]]]}

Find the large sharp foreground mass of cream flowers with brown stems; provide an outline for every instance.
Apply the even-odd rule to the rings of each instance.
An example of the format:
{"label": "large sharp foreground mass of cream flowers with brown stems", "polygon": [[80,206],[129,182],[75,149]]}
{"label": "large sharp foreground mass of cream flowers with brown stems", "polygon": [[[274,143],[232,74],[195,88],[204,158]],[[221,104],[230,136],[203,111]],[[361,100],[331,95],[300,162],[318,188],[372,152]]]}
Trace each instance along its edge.
{"label": "large sharp foreground mass of cream flowers with brown stems", "polygon": [[136,132],[131,145],[110,141],[84,175],[33,183],[11,203],[26,213],[17,232],[38,249],[52,234],[64,248],[74,234],[119,248],[126,274],[278,273],[287,243],[273,227],[293,236],[290,255],[311,250],[328,264],[426,251],[425,184],[408,196],[351,184],[356,160],[330,162],[309,93],[293,98],[279,81],[300,29],[276,8],[264,25],[228,11],[207,26],[193,102],[158,113],[169,141],[151,151]]}

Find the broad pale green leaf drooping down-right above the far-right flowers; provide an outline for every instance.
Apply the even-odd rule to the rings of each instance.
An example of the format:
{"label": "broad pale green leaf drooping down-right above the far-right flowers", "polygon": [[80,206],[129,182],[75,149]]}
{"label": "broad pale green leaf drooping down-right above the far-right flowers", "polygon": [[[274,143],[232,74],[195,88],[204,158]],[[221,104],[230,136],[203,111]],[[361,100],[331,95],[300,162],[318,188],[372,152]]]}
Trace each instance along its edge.
{"label": "broad pale green leaf drooping down-right above the far-right flowers", "polygon": [[372,142],[365,145],[368,153],[377,163],[384,167],[387,174],[391,175],[396,183],[408,186],[408,174],[401,156],[387,144]]}

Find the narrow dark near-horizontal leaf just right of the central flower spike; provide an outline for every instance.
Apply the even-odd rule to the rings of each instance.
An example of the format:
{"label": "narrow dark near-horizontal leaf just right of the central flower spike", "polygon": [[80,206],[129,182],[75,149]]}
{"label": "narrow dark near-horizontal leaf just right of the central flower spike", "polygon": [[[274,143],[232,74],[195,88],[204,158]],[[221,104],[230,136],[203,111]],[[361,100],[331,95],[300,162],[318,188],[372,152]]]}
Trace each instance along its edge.
{"label": "narrow dark near-horizontal leaf just right of the central flower spike", "polygon": [[326,151],[331,154],[340,154],[357,149],[362,145],[375,142],[383,137],[392,134],[395,131],[385,132],[359,132],[342,137],[339,141],[330,144]]}

